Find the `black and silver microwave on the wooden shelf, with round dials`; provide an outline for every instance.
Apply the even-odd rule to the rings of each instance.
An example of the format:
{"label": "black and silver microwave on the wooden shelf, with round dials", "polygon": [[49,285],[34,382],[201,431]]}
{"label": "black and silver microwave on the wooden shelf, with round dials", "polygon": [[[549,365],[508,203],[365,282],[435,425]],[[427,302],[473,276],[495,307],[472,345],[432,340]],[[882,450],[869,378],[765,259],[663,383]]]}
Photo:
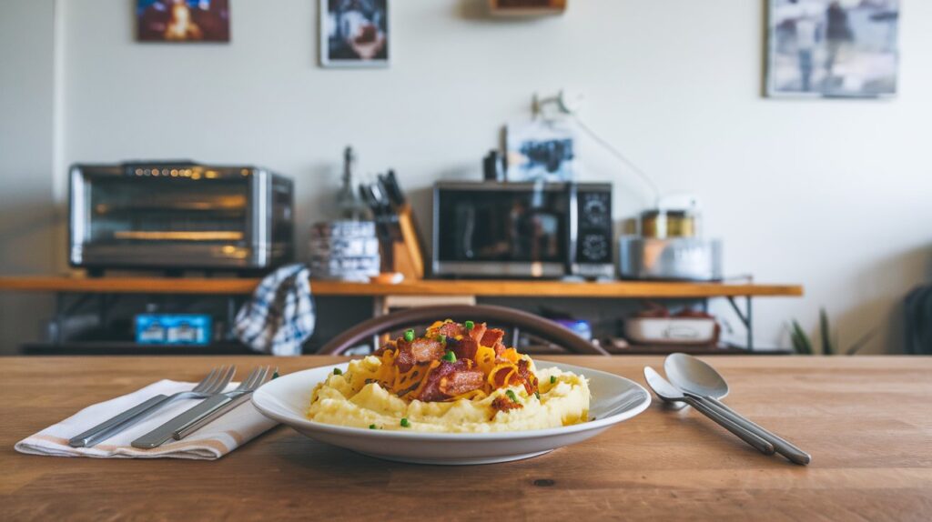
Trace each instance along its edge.
{"label": "black and silver microwave on the wooden shelf, with round dials", "polygon": [[432,232],[434,275],[613,274],[610,183],[441,181]]}

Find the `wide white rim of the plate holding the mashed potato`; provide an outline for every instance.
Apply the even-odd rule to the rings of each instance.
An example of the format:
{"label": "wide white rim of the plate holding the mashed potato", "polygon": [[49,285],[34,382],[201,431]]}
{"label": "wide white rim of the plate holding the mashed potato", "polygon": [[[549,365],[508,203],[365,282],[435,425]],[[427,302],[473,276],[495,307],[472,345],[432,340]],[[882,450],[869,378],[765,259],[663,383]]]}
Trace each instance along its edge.
{"label": "wide white rim of the plate holding the mashed potato", "polygon": [[[356,360],[356,359],[354,359]],[[633,385],[633,388],[636,391],[639,391],[643,395],[643,400],[637,406],[632,408],[625,409],[622,412],[612,414],[608,417],[603,417],[601,419],[596,419],[595,421],[589,422],[580,422],[578,424],[570,424],[569,426],[557,426],[555,428],[543,428],[539,430],[516,430],[516,431],[503,431],[503,432],[491,432],[491,433],[436,433],[436,432],[404,432],[400,430],[372,430],[368,428],[357,428],[354,426],[340,426],[337,424],[327,424],[324,422],[311,421],[306,418],[297,418],[297,417],[286,417],[278,412],[271,411],[267,407],[261,404],[262,396],[270,395],[269,392],[264,391],[267,385],[271,384],[272,381],[267,382],[263,386],[260,386],[250,398],[253,406],[258,409],[263,415],[281,422],[283,424],[288,424],[292,427],[301,427],[303,429],[308,429],[317,432],[324,432],[331,435],[349,435],[349,436],[365,436],[372,438],[382,438],[382,439],[402,439],[402,440],[418,440],[426,439],[431,441],[449,441],[449,442],[467,442],[467,441],[496,441],[496,440],[510,440],[510,439],[528,439],[528,438],[546,438],[556,435],[570,435],[579,432],[586,432],[589,430],[604,429],[618,422],[624,422],[628,419],[637,417],[647,408],[650,408],[652,397],[648,391],[638,384],[636,381],[632,381],[621,375],[616,375],[608,371],[603,371],[600,369],[594,368],[585,368],[576,365],[571,365],[567,363],[548,361],[546,359],[534,359],[535,364],[547,363],[549,365],[554,365],[561,370],[569,370],[574,373],[579,374],[579,372],[588,372],[588,373],[597,373],[602,376],[611,378],[611,379],[620,379],[622,381],[627,381],[629,384]],[[309,371],[319,371],[323,369],[333,370],[334,368],[346,369],[349,368],[349,361],[336,363],[333,365],[324,365],[314,368],[305,368],[298,370],[286,375],[282,375],[279,379],[286,378],[297,378],[298,375],[309,372]],[[316,385],[316,384],[315,384]],[[259,397],[259,400],[256,400],[256,397]]]}

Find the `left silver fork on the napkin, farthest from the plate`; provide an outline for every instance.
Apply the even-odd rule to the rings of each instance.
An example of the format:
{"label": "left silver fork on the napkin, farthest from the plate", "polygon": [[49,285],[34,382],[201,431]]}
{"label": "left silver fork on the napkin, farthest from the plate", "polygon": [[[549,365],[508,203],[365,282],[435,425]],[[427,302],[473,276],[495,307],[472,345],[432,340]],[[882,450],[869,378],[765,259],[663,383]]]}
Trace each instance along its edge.
{"label": "left silver fork on the napkin, farthest from the plate", "polygon": [[190,392],[178,392],[172,395],[156,395],[115,417],[111,417],[97,424],[88,431],[75,435],[68,441],[73,448],[89,448],[98,442],[107,439],[130,426],[142,421],[158,408],[183,398],[204,398],[224,391],[229,381],[236,374],[235,366],[222,366],[213,368],[211,373],[198,383]]}

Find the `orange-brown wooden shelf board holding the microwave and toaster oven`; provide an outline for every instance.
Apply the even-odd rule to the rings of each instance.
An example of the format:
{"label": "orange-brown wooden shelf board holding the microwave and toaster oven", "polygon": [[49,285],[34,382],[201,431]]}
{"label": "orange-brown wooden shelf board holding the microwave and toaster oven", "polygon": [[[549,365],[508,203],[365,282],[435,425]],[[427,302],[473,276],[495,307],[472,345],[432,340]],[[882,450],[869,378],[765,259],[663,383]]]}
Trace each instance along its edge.
{"label": "orange-brown wooden shelf board holding the microwave and toaster oven", "polygon": [[[191,277],[0,277],[0,291],[140,294],[249,294],[258,279]],[[799,297],[800,285],[610,281],[423,280],[399,285],[311,281],[318,296],[473,295],[570,298]]]}

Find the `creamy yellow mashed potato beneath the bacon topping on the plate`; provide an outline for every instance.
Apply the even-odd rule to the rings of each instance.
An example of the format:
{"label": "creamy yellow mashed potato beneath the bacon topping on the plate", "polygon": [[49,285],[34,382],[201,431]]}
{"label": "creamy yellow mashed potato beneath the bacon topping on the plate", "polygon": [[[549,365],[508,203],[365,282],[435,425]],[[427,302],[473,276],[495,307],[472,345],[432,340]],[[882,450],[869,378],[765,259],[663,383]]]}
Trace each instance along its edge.
{"label": "creamy yellow mashed potato beneath the bacon topping on the plate", "polygon": [[[318,384],[311,395],[308,419],[357,428],[447,433],[535,430],[588,420],[588,381],[557,368],[533,370],[540,379],[540,398],[528,395],[523,386],[511,386],[482,399],[408,403],[373,382],[381,364],[370,355]],[[492,401],[501,395],[516,399],[521,408],[493,408]]]}

